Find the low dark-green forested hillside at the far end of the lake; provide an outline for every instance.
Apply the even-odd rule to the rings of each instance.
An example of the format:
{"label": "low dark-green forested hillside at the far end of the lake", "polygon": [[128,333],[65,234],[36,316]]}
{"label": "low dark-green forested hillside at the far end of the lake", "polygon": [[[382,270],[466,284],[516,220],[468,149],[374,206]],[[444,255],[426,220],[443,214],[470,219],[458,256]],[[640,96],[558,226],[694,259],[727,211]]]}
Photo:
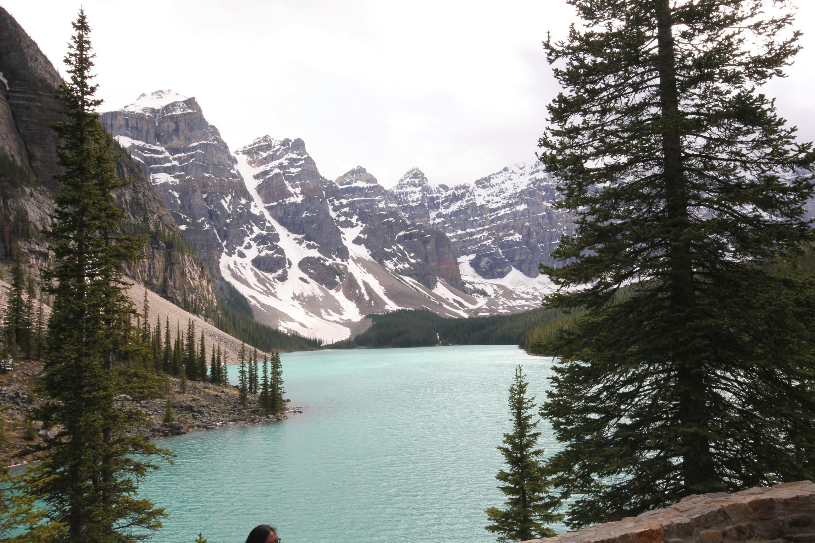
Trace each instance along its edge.
{"label": "low dark-green forested hillside at the far end of the lake", "polygon": [[526,348],[530,341],[528,335],[547,329],[547,326],[556,326],[555,322],[569,316],[540,308],[509,315],[468,318],[439,317],[427,309],[400,309],[370,317],[373,324],[367,331],[330,347],[512,344]]}

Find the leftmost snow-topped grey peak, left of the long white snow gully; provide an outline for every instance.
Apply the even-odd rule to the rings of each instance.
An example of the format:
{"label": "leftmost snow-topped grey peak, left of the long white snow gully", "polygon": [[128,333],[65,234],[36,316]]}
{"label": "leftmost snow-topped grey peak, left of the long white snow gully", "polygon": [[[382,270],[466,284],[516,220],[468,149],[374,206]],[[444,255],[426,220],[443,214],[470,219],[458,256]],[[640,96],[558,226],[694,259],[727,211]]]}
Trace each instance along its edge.
{"label": "leftmost snow-topped grey peak, left of the long white snow gully", "polygon": [[141,165],[184,241],[218,278],[221,252],[234,251],[258,225],[235,159],[196,99],[159,90],[99,120]]}

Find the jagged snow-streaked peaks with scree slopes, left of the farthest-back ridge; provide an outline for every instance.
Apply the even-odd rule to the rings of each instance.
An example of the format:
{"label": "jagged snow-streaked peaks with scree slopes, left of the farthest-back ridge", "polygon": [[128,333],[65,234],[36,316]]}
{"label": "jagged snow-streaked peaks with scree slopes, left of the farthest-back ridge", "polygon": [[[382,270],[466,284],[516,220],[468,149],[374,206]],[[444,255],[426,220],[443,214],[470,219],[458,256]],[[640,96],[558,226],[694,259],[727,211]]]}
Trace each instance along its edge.
{"label": "jagged snow-streaked peaks with scree slopes, left of the farthest-back ridge", "polygon": [[431,185],[418,169],[390,191],[361,166],[326,179],[301,139],[263,136],[230,152],[196,99],[170,90],[100,119],[214,276],[284,331],[333,341],[363,328],[369,313],[531,309],[551,287],[517,269],[483,274],[456,244],[474,254],[484,247],[453,241],[438,220],[452,213],[443,204],[456,187]]}

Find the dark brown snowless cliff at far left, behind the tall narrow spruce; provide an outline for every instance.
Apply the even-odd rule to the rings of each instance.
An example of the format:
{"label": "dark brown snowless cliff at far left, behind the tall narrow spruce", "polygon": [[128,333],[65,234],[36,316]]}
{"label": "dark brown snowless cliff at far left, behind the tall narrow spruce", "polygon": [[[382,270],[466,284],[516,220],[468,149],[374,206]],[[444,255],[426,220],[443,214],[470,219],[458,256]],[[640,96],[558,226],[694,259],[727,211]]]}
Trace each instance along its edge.
{"label": "dark brown snowless cliff at far left, behind the tall narrow spruce", "polygon": [[[57,138],[50,126],[61,106],[54,98],[59,74],[37,44],[0,8],[0,258],[19,248],[32,268],[51,265],[42,228],[51,223]],[[118,173],[132,184],[117,191],[123,228],[148,233],[147,258],[126,273],[176,304],[214,304],[209,274],[178,241],[181,231],[148,177],[122,158]]]}

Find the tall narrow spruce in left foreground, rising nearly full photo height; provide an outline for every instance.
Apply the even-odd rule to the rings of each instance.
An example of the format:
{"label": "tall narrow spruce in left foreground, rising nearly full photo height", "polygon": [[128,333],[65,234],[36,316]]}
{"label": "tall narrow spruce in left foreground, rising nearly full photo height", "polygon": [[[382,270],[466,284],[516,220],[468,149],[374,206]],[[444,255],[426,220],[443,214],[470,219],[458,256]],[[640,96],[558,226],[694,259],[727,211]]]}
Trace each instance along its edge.
{"label": "tall narrow spruce in left foreground, rising nearly full photo height", "polygon": [[48,506],[45,526],[65,527],[55,541],[136,541],[134,528],[161,527],[164,510],[135,497],[154,454],[169,451],[127,430],[139,419],[117,405],[122,378],[116,364],[121,341],[130,336],[135,313],[121,278],[123,265],[143,258],[144,240],[117,234],[123,213],[112,190],[127,182],[116,176],[117,151],[99,123],[91,84],[93,55],[83,11],[69,43],[68,81],[59,86],[65,120],[55,125],[62,173],[55,212],[46,232],[54,269],[46,289],[54,296],[48,351],[41,380],[46,402],[35,416],[57,430],[37,446],[42,463],[24,474],[24,490]]}

